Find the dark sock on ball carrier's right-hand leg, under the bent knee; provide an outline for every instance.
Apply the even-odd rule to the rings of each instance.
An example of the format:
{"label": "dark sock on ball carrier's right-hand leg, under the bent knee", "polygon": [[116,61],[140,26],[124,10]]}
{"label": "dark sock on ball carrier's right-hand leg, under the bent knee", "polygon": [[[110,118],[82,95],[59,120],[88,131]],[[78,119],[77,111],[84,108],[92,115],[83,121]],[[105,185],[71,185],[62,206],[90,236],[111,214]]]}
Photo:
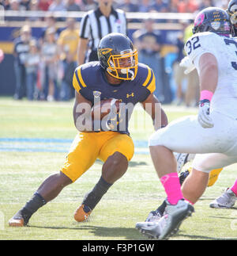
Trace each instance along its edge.
{"label": "dark sock on ball carrier's right-hand leg, under the bent knee", "polygon": [[103,197],[107,190],[111,187],[112,184],[107,183],[102,176],[98,183],[94,186],[92,191],[87,193],[84,197],[82,204],[88,206],[91,210],[96,207],[96,204],[100,202],[100,199]]}

